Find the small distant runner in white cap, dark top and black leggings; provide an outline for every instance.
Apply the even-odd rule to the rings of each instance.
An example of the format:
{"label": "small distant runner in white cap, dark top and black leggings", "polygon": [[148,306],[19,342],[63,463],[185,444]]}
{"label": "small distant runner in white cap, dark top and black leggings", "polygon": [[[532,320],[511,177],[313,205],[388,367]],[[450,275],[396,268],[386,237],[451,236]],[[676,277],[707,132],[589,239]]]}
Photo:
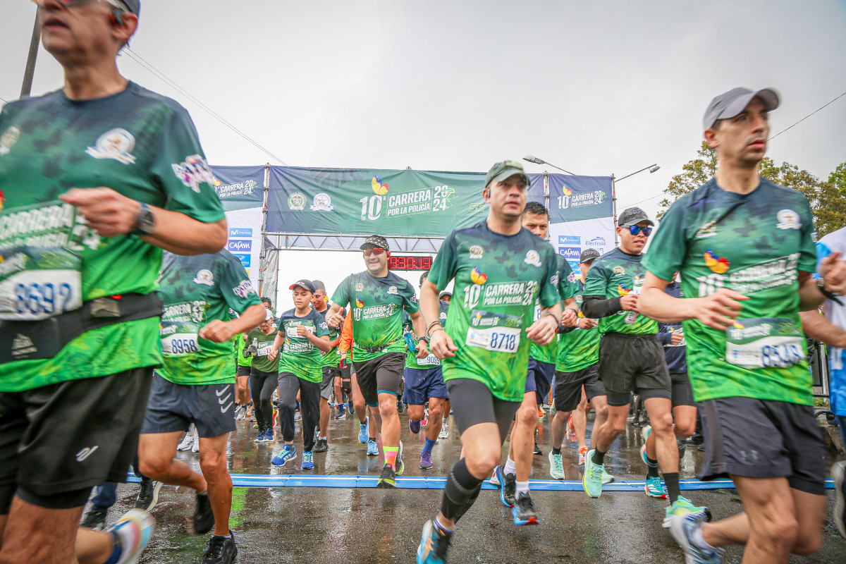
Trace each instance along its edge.
{"label": "small distant runner in white cap, dark top and black leggings", "polygon": [[270,309],[266,309],[264,322],[247,334],[244,358],[252,357],[250,365],[250,393],[253,396],[253,413],[259,433],[255,442],[273,442],[273,404],[271,398],[279,382],[279,358],[270,356],[273,342],[279,332]]}

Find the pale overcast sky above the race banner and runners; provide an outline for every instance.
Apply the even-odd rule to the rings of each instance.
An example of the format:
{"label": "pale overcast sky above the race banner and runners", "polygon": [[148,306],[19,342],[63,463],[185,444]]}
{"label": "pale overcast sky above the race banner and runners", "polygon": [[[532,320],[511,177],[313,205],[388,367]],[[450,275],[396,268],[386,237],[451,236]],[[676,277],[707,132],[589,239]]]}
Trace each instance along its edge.
{"label": "pale overcast sky above the race banner and runners", "polygon": [[[0,97],[11,101],[36,7],[0,9]],[[843,0],[143,0],[132,49],[288,165],[484,172],[531,153],[618,178],[660,165],[618,184],[623,209],[694,158],[713,96],[775,87],[775,134],[846,91],[844,30]],[[211,164],[280,164],[131,58],[118,64],[188,108]],[[41,50],[33,93],[61,85]],[[768,155],[827,178],[846,161],[844,128],[846,96]],[[653,215],[659,200],[640,205]],[[305,265],[311,254],[295,255]],[[360,270],[358,257],[337,260]]]}

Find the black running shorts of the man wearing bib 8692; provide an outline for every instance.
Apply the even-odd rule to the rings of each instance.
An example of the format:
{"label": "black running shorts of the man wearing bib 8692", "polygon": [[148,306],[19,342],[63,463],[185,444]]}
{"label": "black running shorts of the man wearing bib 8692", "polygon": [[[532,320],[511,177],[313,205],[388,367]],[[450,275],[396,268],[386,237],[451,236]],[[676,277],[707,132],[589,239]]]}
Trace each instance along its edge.
{"label": "black running shorts of the man wearing bib 8692", "polygon": [[[0,393],[0,488],[54,496],[125,482],[152,368]],[[8,507],[0,507],[0,514]]]}

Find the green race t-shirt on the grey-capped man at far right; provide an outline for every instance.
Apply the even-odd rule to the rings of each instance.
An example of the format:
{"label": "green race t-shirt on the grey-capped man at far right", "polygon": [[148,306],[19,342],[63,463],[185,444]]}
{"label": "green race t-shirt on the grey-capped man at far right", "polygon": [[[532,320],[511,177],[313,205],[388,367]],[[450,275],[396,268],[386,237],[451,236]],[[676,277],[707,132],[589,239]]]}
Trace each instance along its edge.
{"label": "green race t-shirt on the grey-capped man at far right", "polygon": [[714,178],[663,216],[644,266],[684,298],[727,287],[749,299],[735,325],[717,331],[684,321],[697,402],[719,397],[811,405],[811,376],[799,322],[799,271],[816,271],[814,225],[805,196],[761,178],[750,194]]}

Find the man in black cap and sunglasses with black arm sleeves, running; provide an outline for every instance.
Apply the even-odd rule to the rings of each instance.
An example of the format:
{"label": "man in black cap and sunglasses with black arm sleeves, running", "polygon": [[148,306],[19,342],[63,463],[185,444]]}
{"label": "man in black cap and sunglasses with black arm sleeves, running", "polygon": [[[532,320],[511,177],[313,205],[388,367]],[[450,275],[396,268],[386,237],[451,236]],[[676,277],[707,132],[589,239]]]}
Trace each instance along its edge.
{"label": "man in black cap and sunglasses with black arm sleeves, running", "polygon": [[643,247],[653,223],[645,211],[631,207],[620,214],[620,246],[594,260],[585,277],[582,311],[599,319],[599,379],[605,387],[608,419],[596,432],[593,449],[585,456],[582,483],[591,497],[602,495],[605,453],[625,430],[631,392],[643,399],[657,441],[657,457],[667,484],[666,517],[704,511],[680,495],[678,446],[673,435],[672,383],[664,351],[656,333],[658,324],[638,313],[638,297],[645,276]]}

